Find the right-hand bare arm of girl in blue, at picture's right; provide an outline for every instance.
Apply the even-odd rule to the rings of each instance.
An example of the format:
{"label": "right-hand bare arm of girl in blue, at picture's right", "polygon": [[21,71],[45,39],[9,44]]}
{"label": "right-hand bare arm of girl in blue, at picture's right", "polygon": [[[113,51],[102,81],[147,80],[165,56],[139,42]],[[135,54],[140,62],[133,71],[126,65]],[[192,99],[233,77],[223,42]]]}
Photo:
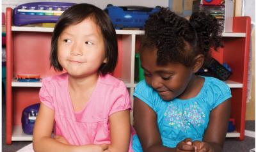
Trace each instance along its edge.
{"label": "right-hand bare arm of girl in blue, at picture's right", "polygon": [[230,118],[230,106],[228,99],[211,111],[203,141],[210,144],[214,151],[222,151]]}

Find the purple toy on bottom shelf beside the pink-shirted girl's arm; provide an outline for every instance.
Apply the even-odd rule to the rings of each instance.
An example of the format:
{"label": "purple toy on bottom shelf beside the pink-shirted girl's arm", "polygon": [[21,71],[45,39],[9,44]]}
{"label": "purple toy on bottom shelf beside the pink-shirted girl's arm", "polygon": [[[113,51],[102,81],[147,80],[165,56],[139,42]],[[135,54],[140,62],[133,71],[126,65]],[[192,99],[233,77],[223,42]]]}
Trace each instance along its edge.
{"label": "purple toy on bottom shelf beside the pink-shirted girl's arm", "polygon": [[34,128],[39,107],[40,107],[40,103],[36,103],[26,107],[22,111],[21,124],[22,124],[22,130],[24,133],[27,133],[29,135],[33,134],[33,128]]}

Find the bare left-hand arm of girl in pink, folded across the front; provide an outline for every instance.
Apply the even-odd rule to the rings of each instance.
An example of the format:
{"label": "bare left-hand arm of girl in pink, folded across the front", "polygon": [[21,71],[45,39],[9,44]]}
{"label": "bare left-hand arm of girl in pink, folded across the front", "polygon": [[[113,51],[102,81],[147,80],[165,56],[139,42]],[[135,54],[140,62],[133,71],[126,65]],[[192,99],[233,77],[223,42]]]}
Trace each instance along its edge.
{"label": "bare left-hand arm of girl in pink, folded across the front", "polygon": [[36,116],[36,123],[33,130],[33,149],[36,152],[40,151],[103,151],[108,146],[86,145],[86,146],[72,146],[63,144],[51,138],[52,128],[54,125],[54,110],[40,104],[38,116]]}

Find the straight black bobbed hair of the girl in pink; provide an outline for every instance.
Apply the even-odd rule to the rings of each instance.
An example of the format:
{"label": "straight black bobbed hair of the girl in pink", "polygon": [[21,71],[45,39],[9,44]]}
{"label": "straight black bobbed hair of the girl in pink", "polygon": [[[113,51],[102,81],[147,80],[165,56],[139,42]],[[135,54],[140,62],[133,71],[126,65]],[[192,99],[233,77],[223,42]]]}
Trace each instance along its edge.
{"label": "straight black bobbed hair of the girl in pink", "polygon": [[112,73],[115,70],[115,66],[118,60],[118,47],[115,28],[113,27],[113,24],[108,15],[103,10],[93,6],[92,4],[75,4],[61,14],[60,19],[54,27],[51,40],[50,60],[51,66],[54,67],[54,70],[63,70],[60,63],[58,62],[57,56],[58,38],[60,34],[66,27],[73,24],[78,24],[88,17],[91,17],[95,24],[100,27],[100,31],[104,40],[105,56],[107,62],[102,63],[99,68],[99,72],[102,75],[106,75],[106,73]]}

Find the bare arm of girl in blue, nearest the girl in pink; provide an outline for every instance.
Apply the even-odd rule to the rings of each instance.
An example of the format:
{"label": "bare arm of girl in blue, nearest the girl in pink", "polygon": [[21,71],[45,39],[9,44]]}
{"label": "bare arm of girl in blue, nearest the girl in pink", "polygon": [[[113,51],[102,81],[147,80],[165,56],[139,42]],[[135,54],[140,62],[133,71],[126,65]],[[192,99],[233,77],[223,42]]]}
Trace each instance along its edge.
{"label": "bare arm of girl in blue, nearest the girl in pink", "polygon": [[134,128],[138,134],[143,151],[172,152],[175,148],[163,146],[157,126],[156,112],[138,98],[134,98]]}

